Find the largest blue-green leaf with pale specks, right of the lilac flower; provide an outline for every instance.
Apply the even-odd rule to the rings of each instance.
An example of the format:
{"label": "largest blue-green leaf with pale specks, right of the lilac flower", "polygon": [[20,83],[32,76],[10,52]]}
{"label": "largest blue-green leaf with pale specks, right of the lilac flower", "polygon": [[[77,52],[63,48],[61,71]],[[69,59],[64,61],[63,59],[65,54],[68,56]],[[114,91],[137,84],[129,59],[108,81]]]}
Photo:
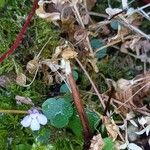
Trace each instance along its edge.
{"label": "largest blue-green leaf with pale specks, right of the lilac flower", "polygon": [[49,120],[52,120],[59,113],[63,114],[67,117],[67,119],[69,119],[73,114],[72,105],[63,98],[47,99],[42,105],[42,110]]}

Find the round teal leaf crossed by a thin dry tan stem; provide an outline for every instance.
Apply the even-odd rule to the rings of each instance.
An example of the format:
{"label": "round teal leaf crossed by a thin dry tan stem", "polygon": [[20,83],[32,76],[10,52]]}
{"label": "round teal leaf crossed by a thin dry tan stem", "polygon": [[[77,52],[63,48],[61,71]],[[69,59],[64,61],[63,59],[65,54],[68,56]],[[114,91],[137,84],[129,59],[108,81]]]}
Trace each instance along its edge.
{"label": "round teal leaf crossed by a thin dry tan stem", "polygon": [[[91,40],[91,46],[92,46],[94,51],[97,50],[100,47],[103,47],[104,45],[105,45],[104,42],[102,40],[100,40],[100,39],[92,39]],[[103,58],[103,57],[105,57],[106,56],[106,52],[107,52],[106,48],[98,51],[96,53],[96,58]]]}

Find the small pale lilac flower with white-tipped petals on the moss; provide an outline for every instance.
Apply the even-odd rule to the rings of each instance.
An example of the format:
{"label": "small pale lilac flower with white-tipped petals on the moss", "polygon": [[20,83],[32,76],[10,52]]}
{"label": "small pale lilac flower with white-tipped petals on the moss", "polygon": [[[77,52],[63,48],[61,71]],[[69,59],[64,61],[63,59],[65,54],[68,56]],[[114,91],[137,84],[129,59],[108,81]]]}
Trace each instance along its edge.
{"label": "small pale lilac flower with white-tipped petals on the moss", "polygon": [[47,124],[47,118],[39,113],[38,110],[33,109],[29,111],[29,115],[22,119],[21,124],[23,127],[30,127],[31,130],[37,131],[40,129],[40,124]]}

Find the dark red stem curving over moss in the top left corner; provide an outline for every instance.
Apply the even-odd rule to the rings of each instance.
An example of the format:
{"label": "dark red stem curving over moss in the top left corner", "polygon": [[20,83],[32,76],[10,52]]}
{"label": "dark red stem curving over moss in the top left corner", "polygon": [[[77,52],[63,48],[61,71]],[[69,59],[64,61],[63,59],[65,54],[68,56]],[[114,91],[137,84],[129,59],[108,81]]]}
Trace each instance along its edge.
{"label": "dark red stem curving over moss in the top left corner", "polygon": [[38,7],[38,0],[34,0],[32,10],[29,13],[29,15],[28,15],[23,27],[21,28],[18,36],[16,37],[14,44],[8,49],[8,51],[6,51],[0,57],[0,63],[2,63],[7,57],[9,57],[17,49],[17,47],[20,45],[20,43],[22,42],[22,40],[24,38],[24,34],[25,34],[29,24],[30,24],[30,21],[31,21],[37,7]]}

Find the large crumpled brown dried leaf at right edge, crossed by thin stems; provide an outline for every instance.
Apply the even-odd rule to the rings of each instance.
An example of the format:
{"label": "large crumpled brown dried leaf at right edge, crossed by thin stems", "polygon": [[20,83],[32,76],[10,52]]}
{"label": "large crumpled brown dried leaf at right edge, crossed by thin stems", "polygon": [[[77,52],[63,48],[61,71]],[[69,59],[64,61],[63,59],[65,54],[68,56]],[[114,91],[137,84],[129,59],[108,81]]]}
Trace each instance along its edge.
{"label": "large crumpled brown dried leaf at right edge, crossed by thin stems", "polygon": [[[150,94],[150,73],[146,75],[138,75],[133,80],[120,79],[115,84],[114,98],[122,104],[116,110],[119,110],[126,116],[129,109],[139,109],[141,111],[149,112],[144,106],[143,100]],[[126,107],[125,105],[128,105]]]}

